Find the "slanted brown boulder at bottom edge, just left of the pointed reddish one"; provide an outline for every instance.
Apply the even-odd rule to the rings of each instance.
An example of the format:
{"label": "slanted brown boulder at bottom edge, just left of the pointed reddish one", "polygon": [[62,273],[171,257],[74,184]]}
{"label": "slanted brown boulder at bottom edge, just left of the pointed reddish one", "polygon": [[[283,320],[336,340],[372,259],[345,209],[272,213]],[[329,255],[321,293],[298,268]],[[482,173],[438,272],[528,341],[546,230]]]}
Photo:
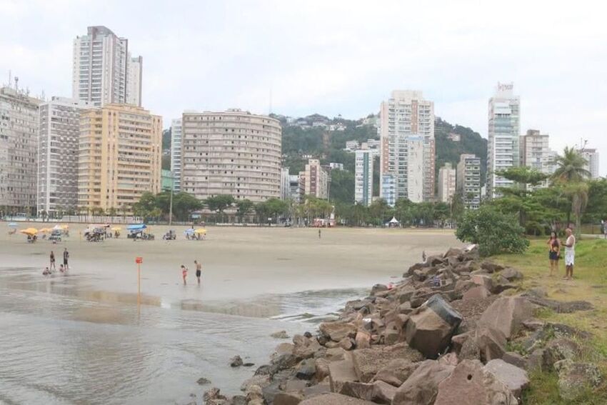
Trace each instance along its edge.
{"label": "slanted brown boulder at bottom edge, just left of the pointed reddish one", "polygon": [[453,366],[436,360],[423,361],[416,371],[396,390],[392,405],[432,405],[438,384],[451,375]]}

